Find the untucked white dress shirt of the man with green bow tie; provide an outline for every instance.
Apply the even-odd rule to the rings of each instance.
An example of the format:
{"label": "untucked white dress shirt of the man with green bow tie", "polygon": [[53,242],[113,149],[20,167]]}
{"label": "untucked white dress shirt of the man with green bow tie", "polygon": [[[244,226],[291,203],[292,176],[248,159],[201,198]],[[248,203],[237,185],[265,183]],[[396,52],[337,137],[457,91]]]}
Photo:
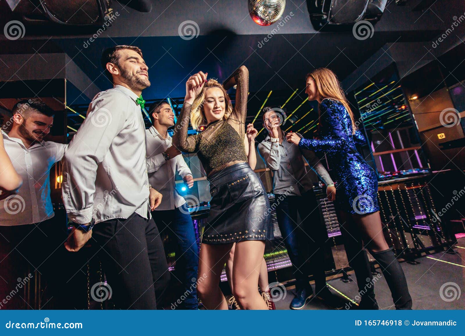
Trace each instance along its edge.
{"label": "untucked white dress shirt of the man with green bow tie", "polygon": [[70,219],[86,224],[151,218],[145,125],[137,95],[124,86],[98,93],[63,159],[63,201]]}

